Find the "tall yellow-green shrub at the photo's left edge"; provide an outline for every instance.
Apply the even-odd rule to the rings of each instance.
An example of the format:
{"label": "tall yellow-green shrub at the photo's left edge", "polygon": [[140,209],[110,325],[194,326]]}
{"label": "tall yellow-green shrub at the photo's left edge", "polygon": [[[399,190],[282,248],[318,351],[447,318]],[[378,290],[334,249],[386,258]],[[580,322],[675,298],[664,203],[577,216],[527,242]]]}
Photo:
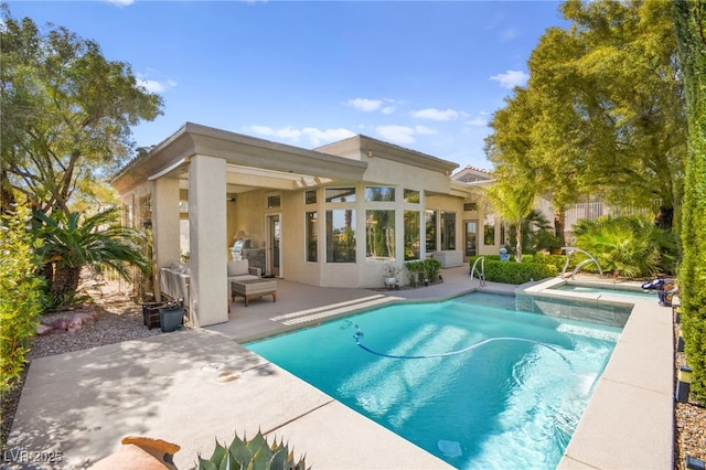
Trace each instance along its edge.
{"label": "tall yellow-green shrub at the photo's left edge", "polygon": [[0,222],[0,392],[10,391],[22,373],[42,313],[43,281],[36,276],[40,247],[26,231],[30,212],[18,210]]}

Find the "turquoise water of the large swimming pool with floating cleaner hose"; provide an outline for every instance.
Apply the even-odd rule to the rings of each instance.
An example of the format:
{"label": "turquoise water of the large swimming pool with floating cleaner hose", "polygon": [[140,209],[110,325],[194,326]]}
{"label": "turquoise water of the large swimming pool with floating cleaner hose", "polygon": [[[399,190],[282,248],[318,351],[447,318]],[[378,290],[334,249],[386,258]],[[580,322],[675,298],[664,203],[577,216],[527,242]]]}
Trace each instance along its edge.
{"label": "turquoise water of the large swimming pool with floating cleaner hose", "polygon": [[246,346],[457,468],[555,468],[620,331],[475,292]]}

